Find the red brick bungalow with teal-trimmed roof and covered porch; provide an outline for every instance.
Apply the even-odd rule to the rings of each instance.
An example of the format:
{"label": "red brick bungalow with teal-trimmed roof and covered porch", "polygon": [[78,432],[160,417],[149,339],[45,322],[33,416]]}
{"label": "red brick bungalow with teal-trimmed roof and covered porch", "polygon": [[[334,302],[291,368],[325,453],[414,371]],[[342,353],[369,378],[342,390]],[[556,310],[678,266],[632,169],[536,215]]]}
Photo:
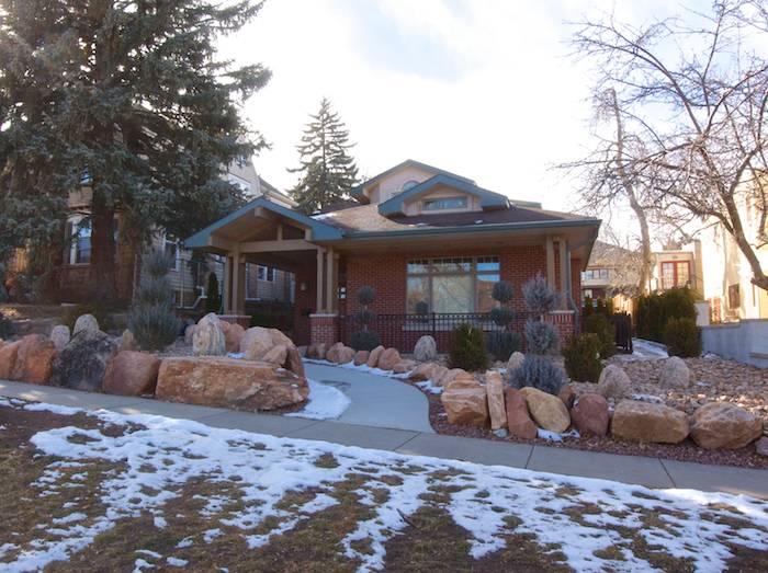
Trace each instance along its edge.
{"label": "red brick bungalow with teal-trimmed roof and covered porch", "polygon": [[440,346],[458,323],[493,329],[498,280],[520,287],[541,273],[563,294],[547,317],[567,335],[580,303],[580,272],[600,221],[512,200],[473,180],[407,160],[352,192],[355,203],[306,216],[260,197],[193,234],[188,249],[226,257],[225,311],[245,320],[245,265],[295,276],[297,344],[349,342],[359,330],[357,293],[375,289],[374,329],[383,344],[410,351],[422,334]]}

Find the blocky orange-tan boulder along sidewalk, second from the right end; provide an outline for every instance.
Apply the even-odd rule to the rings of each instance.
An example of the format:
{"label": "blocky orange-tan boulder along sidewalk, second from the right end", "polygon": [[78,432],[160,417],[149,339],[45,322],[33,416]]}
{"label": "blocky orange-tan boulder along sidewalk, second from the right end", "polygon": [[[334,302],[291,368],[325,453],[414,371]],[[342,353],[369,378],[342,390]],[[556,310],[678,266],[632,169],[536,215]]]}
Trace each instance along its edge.
{"label": "blocky orange-tan boulder along sidewalk, second from the right end", "polygon": [[613,411],[611,434],[620,438],[678,444],[688,437],[688,416],[664,404],[622,400]]}

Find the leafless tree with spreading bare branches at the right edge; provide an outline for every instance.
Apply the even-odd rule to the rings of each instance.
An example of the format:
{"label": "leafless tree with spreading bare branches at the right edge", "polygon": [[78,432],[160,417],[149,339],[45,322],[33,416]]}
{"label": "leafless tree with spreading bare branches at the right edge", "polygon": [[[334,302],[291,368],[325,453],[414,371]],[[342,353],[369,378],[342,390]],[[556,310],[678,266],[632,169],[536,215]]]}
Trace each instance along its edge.
{"label": "leafless tree with spreading bare branches at the right edge", "polygon": [[[756,254],[768,243],[766,2],[716,2],[708,14],[689,11],[687,21],[634,27],[606,16],[578,24],[574,46],[597,65],[597,93],[612,94],[615,112],[615,154],[596,164],[594,176],[621,182],[628,197],[643,182],[666,216],[719,221],[752,282],[768,289]],[[757,214],[752,236],[747,205]]]}

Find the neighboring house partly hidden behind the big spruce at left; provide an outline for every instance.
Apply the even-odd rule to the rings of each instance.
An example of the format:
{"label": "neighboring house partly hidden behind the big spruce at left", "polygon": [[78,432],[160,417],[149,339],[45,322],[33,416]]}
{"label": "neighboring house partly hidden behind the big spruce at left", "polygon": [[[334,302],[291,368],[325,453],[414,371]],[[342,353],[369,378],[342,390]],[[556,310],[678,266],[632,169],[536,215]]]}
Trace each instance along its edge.
{"label": "neighboring house partly hidden behind the big spruce at left", "polygon": [[[249,198],[268,197],[271,202],[284,207],[294,204],[287,195],[281,193],[261,179],[252,163],[230,165],[227,170],[227,181],[238,185]],[[91,192],[86,184],[79,191],[70,194],[69,207],[71,215],[66,226],[66,251],[63,264],[58,268],[59,297],[64,302],[81,302],[89,298],[91,280],[91,239],[88,214]],[[117,217],[117,226],[122,219]],[[158,231],[149,249],[162,249],[173,261],[169,274],[176,303],[179,308],[200,310],[204,308],[208,275],[216,273],[221,284],[224,279],[224,259],[216,254],[193,256],[192,251],[181,248],[176,238],[167,237]],[[135,285],[142,279],[140,257],[127,244],[120,242],[116,247],[116,288],[118,298],[131,300]],[[293,277],[285,272],[261,265],[248,265],[245,295],[249,302],[281,301],[290,302],[293,297]]]}

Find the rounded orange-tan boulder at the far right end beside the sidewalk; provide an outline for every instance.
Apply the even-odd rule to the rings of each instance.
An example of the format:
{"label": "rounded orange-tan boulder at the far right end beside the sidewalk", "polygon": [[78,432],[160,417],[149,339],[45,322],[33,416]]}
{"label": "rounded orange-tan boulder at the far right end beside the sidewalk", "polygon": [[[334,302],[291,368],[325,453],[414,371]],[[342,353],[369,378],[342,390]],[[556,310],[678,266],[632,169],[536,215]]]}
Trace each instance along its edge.
{"label": "rounded orange-tan boulder at the far right end beside the sidewalk", "polygon": [[763,421],[735,404],[710,402],[691,416],[691,438],[704,449],[738,449],[763,435]]}

